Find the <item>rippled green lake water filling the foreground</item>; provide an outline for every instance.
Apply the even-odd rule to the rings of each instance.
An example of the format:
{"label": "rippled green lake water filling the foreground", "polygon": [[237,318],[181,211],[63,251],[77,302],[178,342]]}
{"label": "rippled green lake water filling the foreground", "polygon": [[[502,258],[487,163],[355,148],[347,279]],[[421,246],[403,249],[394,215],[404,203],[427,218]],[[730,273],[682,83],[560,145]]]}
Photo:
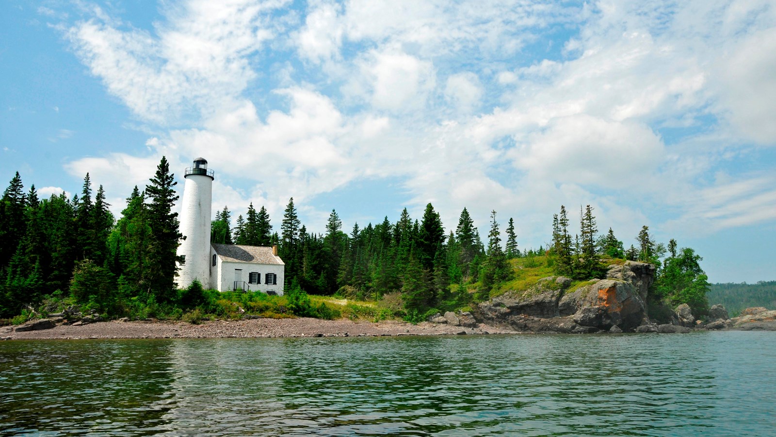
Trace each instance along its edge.
{"label": "rippled green lake water filling the foreground", "polygon": [[774,435],[776,333],[5,341],[3,435]]}

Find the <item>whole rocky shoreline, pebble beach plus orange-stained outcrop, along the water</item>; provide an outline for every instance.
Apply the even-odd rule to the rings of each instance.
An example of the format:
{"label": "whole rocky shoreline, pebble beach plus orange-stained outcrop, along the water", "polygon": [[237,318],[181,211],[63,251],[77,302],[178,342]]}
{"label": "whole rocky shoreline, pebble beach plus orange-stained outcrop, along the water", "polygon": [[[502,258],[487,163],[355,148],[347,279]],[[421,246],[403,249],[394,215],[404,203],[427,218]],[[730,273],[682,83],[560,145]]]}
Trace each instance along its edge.
{"label": "whole rocky shoreline, pebble beach plus orange-stained outcrop, along the water", "polygon": [[[377,337],[463,334],[621,334],[687,333],[692,330],[776,330],[776,311],[747,308],[729,318],[721,305],[712,306],[705,322],[683,304],[662,322],[650,318],[646,299],[655,266],[626,261],[612,264],[605,279],[571,287],[563,276],[543,278],[525,291],[506,292],[471,311],[438,313],[417,325],[400,320],[379,323],[319,320],[306,317],[208,320],[201,324],[158,320],[102,321],[99,316],[70,313],[0,327],[0,340],[83,338],[213,338],[213,337]],[[68,317],[70,320],[65,320]]]}

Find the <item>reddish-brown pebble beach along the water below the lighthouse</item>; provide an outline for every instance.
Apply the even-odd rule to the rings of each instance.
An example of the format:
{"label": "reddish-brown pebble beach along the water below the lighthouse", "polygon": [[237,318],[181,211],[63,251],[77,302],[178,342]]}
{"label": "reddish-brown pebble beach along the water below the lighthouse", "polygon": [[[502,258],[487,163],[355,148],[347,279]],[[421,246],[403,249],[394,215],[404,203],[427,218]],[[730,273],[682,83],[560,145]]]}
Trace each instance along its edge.
{"label": "reddish-brown pebble beach along the water below the lighthouse", "polygon": [[465,328],[447,324],[397,320],[379,323],[352,320],[296,319],[213,320],[199,325],[185,322],[98,322],[82,326],[60,324],[47,330],[13,331],[0,327],[3,340],[81,338],[213,338],[213,337],[359,337],[383,335],[514,334],[498,327]]}

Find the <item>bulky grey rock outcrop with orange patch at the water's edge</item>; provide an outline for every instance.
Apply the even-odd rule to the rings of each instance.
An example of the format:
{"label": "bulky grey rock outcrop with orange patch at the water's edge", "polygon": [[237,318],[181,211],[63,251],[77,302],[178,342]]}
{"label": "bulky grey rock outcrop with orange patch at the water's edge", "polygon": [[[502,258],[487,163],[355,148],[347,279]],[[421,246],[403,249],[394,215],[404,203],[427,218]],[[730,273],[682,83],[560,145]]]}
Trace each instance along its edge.
{"label": "bulky grey rock outcrop with orange patch at the water's edge", "polygon": [[478,322],[533,332],[632,331],[646,319],[655,266],[626,261],[611,265],[606,276],[573,290],[570,278],[543,278],[524,292],[480,303],[474,315]]}

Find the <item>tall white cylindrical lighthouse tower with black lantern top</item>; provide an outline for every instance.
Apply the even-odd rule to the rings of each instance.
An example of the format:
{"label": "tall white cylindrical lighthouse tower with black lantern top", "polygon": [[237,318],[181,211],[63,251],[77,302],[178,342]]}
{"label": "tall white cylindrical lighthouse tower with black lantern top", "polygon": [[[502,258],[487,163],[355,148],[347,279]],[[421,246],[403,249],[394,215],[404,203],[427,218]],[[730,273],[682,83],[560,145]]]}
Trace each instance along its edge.
{"label": "tall white cylindrical lighthouse tower with black lantern top", "polygon": [[181,233],[184,239],[178,246],[183,264],[178,270],[178,287],[188,287],[199,279],[203,287],[210,284],[210,209],[213,199],[213,170],[207,160],[194,159],[194,166],[185,170]]}

